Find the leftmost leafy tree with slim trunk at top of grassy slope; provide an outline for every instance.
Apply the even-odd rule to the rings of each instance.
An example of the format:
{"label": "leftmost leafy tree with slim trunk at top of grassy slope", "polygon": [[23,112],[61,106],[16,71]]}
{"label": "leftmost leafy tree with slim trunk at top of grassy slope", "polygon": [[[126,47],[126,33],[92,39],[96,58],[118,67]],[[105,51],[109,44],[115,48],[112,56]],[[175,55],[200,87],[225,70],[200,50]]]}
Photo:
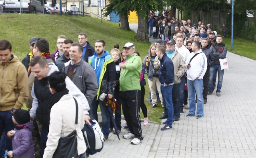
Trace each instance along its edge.
{"label": "leftmost leafy tree with slim trunk at top of grassy slope", "polygon": [[105,7],[104,16],[110,15],[111,12],[117,12],[120,18],[121,27],[124,30],[130,30],[128,15],[130,14],[130,1],[128,0],[109,0]]}

